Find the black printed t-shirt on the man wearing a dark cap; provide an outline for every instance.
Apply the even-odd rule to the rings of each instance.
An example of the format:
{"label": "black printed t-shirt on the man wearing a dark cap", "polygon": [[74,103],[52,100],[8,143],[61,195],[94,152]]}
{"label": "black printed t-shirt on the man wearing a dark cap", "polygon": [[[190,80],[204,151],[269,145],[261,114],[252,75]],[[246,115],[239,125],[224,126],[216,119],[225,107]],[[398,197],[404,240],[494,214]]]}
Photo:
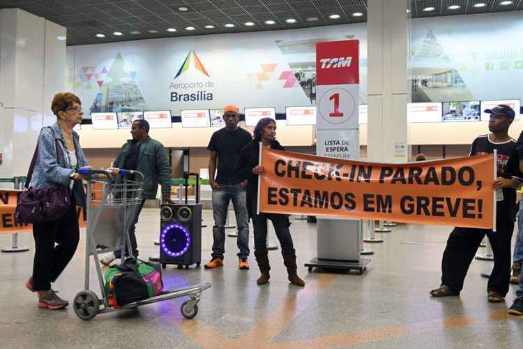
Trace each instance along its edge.
{"label": "black printed t-shirt on the man wearing a dark cap", "polygon": [[[517,155],[516,141],[494,143],[489,135],[480,135],[472,142],[470,155],[492,154],[498,151],[497,174],[503,178],[520,178],[520,157]],[[497,202],[497,221],[514,222],[516,214],[516,191],[513,188],[503,188],[503,201]]]}

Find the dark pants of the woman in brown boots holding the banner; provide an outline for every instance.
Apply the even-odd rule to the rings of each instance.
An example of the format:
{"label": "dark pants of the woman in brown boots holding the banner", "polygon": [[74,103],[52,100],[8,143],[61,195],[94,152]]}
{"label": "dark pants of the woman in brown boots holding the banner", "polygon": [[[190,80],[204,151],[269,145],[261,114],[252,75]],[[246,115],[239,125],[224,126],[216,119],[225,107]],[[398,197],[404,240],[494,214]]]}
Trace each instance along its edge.
{"label": "dark pants of the woman in brown boots holding the banner", "polygon": [[280,240],[282,251],[294,248],[291,231],[289,230],[289,218],[285,214],[256,214],[257,203],[251,203],[252,225],[254,225],[255,251],[267,251],[267,220],[273,223],[276,237]]}

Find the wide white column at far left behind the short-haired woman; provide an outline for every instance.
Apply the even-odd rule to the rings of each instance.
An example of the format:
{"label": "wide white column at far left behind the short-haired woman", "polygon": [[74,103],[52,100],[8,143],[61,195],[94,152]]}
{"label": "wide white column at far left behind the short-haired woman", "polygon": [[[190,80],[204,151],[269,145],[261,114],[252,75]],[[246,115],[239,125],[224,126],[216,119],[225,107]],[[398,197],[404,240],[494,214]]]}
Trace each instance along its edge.
{"label": "wide white column at far left behind the short-haired woman", "polygon": [[65,38],[65,27],[42,17],[17,8],[0,10],[2,178],[27,173],[44,114],[47,123],[54,121],[51,98],[65,86]]}

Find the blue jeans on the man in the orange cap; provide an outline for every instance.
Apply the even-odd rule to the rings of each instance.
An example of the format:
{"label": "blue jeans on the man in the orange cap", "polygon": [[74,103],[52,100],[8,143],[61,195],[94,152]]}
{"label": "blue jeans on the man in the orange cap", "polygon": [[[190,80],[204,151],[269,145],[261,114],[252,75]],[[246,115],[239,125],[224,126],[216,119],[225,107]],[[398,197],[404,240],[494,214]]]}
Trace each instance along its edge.
{"label": "blue jeans on the man in the orange cap", "polygon": [[218,184],[219,189],[213,190],[213,258],[223,258],[225,253],[225,221],[227,209],[232,200],[236,225],[238,225],[238,257],[247,258],[249,251],[249,217],[247,213],[247,198],[245,189],[238,185]]}

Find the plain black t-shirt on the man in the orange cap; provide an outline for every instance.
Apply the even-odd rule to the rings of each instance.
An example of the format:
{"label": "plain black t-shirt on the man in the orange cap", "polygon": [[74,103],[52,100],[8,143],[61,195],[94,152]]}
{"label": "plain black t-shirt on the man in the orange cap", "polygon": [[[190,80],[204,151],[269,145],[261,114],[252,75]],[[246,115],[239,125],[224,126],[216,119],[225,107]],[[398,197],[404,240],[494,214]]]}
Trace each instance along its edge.
{"label": "plain black t-shirt on the man in the orange cap", "polygon": [[252,142],[250,133],[239,127],[235,131],[222,128],[213,133],[207,149],[218,151],[218,173],[215,179],[218,184],[238,184],[243,181],[234,173],[234,168],[241,149],[250,142]]}

